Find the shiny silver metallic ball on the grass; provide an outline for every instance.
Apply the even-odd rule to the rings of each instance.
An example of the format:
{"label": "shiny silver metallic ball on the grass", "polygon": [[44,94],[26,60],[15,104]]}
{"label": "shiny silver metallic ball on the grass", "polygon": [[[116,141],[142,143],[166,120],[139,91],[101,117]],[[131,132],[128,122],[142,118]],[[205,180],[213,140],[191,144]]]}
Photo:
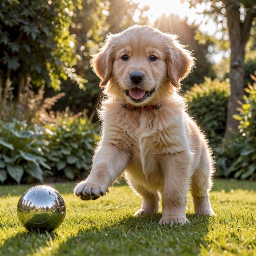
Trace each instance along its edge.
{"label": "shiny silver metallic ball on the grass", "polygon": [[38,185],[28,189],[20,198],[17,216],[27,230],[53,230],[63,222],[65,202],[58,191]]}

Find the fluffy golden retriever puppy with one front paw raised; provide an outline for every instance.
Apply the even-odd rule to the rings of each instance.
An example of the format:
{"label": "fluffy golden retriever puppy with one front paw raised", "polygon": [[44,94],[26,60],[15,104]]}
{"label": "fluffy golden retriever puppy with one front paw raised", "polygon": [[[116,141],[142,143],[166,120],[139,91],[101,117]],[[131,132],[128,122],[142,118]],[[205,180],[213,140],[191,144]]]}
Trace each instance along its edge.
{"label": "fluffy golden retriever puppy with one front paw raised", "polygon": [[135,216],[156,213],[162,193],[159,223],[189,222],[189,188],[195,213],[214,215],[211,150],[177,94],[193,65],[191,52],[176,36],[158,29],[135,25],[108,36],[92,58],[107,95],[99,110],[102,137],[90,174],[74,189],[76,196],[95,200],[125,172],[143,198]]}

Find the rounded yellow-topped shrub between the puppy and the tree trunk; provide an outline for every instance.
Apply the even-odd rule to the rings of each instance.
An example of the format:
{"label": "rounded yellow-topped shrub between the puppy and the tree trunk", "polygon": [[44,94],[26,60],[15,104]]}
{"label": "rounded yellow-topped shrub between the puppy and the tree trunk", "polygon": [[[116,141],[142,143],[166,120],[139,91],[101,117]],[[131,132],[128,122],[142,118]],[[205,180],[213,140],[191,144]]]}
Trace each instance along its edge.
{"label": "rounded yellow-topped shrub between the puppy and the tree trunk", "polygon": [[186,90],[189,114],[205,131],[210,146],[215,148],[222,142],[226,126],[226,112],[230,83],[219,79],[204,78],[204,83],[194,84]]}

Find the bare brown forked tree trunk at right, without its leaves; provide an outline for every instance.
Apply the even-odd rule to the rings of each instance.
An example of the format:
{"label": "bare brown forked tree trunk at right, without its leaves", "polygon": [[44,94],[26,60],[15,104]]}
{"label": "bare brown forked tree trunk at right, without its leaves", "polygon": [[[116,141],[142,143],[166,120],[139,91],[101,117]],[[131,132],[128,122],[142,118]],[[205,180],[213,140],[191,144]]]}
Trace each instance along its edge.
{"label": "bare brown forked tree trunk at right, without its leaves", "polygon": [[239,122],[232,116],[238,113],[240,105],[238,101],[243,100],[244,81],[245,81],[245,44],[249,38],[249,31],[252,26],[252,17],[248,13],[244,23],[240,22],[240,1],[225,0],[227,24],[229,28],[229,40],[231,47],[230,62],[230,84],[231,94],[227,109],[227,122],[225,138],[231,139],[238,130]]}

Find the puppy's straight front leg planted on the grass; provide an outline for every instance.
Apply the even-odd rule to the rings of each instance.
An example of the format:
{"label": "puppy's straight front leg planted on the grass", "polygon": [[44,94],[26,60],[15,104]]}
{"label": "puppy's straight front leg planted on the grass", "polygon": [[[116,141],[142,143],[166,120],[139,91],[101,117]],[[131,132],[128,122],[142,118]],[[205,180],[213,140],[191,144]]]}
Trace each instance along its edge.
{"label": "puppy's straight front leg planted on the grass", "polygon": [[162,161],[164,188],[162,193],[163,213],[159,224],[185,224],[186,195],[189,186],[191,157],[188,152],[167,154]]}

